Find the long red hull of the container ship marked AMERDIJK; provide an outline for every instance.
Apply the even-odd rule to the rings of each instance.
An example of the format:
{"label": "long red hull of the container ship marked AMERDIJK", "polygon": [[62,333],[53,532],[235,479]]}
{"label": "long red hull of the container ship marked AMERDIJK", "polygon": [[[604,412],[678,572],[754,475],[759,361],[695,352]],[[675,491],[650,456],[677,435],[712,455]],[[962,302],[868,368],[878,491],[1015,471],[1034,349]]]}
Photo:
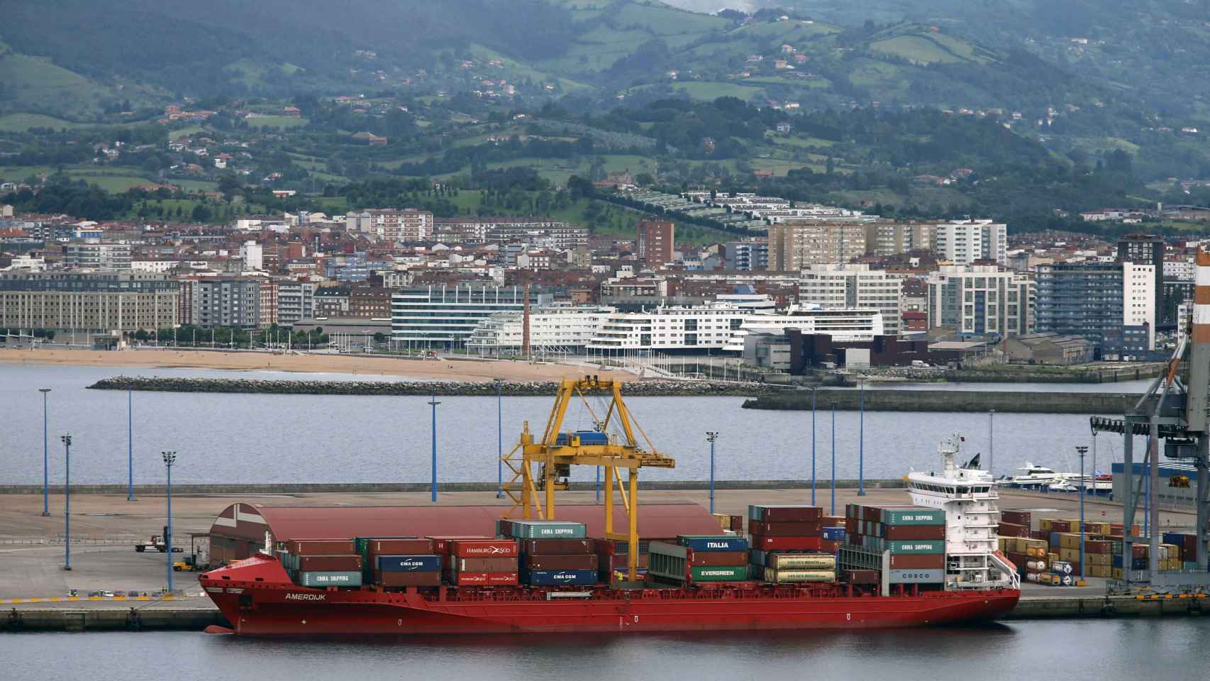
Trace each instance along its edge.
{"label": "long red hull of the container ship marked AMERDIJK", "polygon": [[875,595],[853,585],[728,582],[634,589],[382,587],[311,589],[260,554],[201,576],[244,635],[640,633],[920,627],[995,619],[1016,589]]}

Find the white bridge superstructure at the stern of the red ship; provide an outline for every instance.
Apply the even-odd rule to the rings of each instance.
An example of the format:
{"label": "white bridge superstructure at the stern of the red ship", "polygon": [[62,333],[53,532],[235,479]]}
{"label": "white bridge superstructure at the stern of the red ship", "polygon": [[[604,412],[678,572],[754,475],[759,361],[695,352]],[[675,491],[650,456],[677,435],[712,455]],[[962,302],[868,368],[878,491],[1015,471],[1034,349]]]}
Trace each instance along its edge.
{"label": "white bridge superstructure at the stern of the red ship", "polygon": [[949,438],[938,448],[941,469],[910,473],[912,503],[945,509],[945,588],[1019,589],[1021,579],[998,553],[999,508],[991,473],[979,468],[975,456],[955,463],[962,439]]}

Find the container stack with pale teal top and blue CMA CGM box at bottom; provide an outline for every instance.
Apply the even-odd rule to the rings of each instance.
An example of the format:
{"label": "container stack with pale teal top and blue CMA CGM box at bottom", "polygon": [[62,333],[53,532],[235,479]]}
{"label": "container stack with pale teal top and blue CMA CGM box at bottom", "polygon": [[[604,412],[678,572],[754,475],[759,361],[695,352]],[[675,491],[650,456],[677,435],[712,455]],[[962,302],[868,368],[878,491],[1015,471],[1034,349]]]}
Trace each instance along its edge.
{"label": "container stack with pale teal top and blue CMA CGM box at bottom", "polygon": [[523,584],[531,587],[592,585],[598,558],[580,523],[559,520],[501,520],[501,532],[520,542]]}

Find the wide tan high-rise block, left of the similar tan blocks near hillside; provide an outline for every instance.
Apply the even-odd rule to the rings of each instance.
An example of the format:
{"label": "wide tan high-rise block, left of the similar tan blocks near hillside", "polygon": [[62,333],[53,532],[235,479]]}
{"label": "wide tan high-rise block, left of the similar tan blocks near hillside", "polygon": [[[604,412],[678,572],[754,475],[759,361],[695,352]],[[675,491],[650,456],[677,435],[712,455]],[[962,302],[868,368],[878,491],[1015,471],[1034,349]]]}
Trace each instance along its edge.
{"label": "wide tan high-rise block, left of the similar tan blocks near hillside", "polygon": [[793,272],[865,255],[865,225],[791,219],[768,226],[768,269]]}

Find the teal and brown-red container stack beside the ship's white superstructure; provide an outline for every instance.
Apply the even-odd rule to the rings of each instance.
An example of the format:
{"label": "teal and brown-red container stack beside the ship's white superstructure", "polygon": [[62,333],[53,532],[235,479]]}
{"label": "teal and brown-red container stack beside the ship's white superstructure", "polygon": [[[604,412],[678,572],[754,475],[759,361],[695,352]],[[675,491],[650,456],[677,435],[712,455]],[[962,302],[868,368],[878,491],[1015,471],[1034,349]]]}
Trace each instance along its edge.
{"label": "teal and brown-red container stack beside the ship's white superstructure", "polygon": [[[860,547],[860,552],[868,554],[891,554],[889,584],[945,583],[944,510],[922,506],[851,503],[845,507],[845,523],[847,547]],[[874,569],[875,565],[854,561],[852,567]]]}

